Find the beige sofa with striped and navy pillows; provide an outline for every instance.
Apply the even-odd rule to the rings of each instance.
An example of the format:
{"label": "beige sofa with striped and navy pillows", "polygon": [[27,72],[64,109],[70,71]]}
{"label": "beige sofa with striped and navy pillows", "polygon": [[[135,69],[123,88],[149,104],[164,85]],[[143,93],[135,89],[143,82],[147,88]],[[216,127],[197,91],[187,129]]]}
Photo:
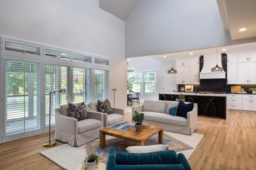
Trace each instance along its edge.
{"label": "beige sofa with striped and navy pillows", "polygon": [[132,116],[134,111],[144,113],[144,123],[164,127],[164,131],[182,133],[191,135],[197,128],[197,104],[194,103],[192,111],[187,113],[187,119],[180,116],[166,114],[166,104],[178,106],[178,102],[165,100],[145,100],[140,106],[132,107]]}

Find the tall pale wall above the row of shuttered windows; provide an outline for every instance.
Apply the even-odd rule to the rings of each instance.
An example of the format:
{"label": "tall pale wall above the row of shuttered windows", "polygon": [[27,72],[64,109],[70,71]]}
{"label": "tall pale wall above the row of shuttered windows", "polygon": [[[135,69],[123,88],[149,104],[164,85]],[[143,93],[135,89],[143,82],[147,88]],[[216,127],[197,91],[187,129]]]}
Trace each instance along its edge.
{"label": "tall pale wall above the row of shuttered windows", "polygon": [[110,57],[116,106],[127,107],[124,21],[99,8],[99,0],[1,0],[0,35]]}

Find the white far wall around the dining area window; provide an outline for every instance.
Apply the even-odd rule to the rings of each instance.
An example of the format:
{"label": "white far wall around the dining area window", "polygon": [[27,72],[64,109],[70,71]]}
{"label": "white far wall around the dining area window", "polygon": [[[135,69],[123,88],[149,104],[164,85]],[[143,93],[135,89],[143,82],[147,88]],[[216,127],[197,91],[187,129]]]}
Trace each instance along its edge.
{"label": "white far wall around the dining area window", "polygon": [[[162,93],[162,74],[167,73],[172,68],[172,61],[160,61],[150,57],[134,57],[127,59],[129,65],[134,68],[134,71],[141,70],[156,70],[156,95],[140,94],[140,101],[144,100],[158,100],[158,93]],[[173,60],[173,68],[176,70],[176,60]]]}

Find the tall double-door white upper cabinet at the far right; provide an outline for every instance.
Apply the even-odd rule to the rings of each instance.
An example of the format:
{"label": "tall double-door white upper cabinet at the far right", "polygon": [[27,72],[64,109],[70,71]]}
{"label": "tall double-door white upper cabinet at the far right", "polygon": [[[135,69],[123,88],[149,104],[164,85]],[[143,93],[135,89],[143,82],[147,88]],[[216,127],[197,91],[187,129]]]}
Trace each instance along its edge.
{"label": "tall double-door white upper cabinet at the far right", "polygon": [[256,84],[256,61],[238,63],[238,84]]}

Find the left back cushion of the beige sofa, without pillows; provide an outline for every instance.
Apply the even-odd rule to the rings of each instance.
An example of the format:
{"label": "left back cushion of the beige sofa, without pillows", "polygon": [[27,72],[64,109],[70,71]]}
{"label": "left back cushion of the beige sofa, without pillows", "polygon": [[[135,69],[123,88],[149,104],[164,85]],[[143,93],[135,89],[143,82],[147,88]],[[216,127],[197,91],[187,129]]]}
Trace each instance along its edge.
{"label": "left back cushion of the beige sofa, without pillows", "polygon": [[164,100],[145,100],[142,111],[154,111],[165,113],[166,101]]}

